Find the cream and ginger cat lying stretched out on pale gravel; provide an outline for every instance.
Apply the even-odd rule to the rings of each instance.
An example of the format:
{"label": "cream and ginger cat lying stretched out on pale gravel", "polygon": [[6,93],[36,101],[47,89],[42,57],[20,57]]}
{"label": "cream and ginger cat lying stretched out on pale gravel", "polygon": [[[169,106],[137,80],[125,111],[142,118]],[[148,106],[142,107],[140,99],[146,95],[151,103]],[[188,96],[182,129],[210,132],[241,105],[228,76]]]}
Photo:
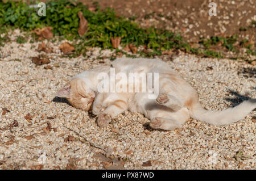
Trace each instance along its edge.
{"label": "cream and ginger cat lying stretched out on pale gravel", "polygon": [[251,99],[223,111],[204,110],[195,89],[160,60],[117,58],[112,67],[116,73],[159,73],[158,97],[149,99],[148,92],[98,92],[96,75],[102,71],[109,73],[108,66],[76,75],[57,96],[67,98],[74,107],[85,111],[91,109],[98,115],[100,127],[107,126],[115,116],[126,110],[142,113],[155,129],[180,128],[189,117],[213,125],[225,125],[242,119],[256,107],[256,99]]}

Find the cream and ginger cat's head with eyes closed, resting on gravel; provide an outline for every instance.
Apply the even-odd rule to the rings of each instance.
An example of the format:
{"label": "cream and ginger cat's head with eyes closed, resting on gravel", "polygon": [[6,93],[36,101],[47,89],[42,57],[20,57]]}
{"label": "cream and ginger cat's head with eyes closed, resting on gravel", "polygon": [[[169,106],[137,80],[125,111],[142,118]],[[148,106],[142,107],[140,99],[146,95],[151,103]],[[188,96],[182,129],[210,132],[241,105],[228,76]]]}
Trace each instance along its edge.
{"label": "cream and ginger cat's head with eyes closed, resting on gravel", "polygon": [[86,86],[82,79],[75,78],[68,82],[63,89],[59,90],[57,96],[67,98],[72,106],[88,111],[92,108],[91,106],[96,94],[89,86]]}

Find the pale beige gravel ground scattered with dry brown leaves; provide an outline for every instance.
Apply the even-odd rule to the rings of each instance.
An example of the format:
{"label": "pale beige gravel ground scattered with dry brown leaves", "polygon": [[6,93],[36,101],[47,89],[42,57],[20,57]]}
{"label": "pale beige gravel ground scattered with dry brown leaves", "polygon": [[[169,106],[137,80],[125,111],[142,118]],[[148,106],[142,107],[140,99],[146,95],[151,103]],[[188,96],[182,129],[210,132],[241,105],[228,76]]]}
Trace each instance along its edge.
{"label": "pale beige gravel ground scattered with dry brown leaves", "polygon": [[[11,40],[19,33],[15,30]],[[0,169],[256,168],[256,111],[222,127],[190,119],[175,131],[153,130],[143,115],[125,112],[99,128],[93,115],[55,94],[73,75],[109,64],[97,57],[113,52],[93,48],[88,57],[65,58],[61,43],[49,43],[52,69],[32,63],[40,54],[38,42],[11,41],[1,48]],[[207,109],[256,98],[256,66],[183,53],[162,59],[195,87]]]}

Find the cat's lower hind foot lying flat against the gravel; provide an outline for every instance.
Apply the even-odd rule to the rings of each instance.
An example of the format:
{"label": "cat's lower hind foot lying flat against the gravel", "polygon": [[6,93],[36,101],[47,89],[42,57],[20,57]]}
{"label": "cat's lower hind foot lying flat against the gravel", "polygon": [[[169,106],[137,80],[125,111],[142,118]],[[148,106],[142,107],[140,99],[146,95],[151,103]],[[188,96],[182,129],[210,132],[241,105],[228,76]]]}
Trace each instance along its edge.
{"label": "cat's lower hind foot lying flat against the gravel", "polygon": [[175,128],[181,128],[182,125],[175,119],[155,117],[150,121],[150,127],[154,129],[173,130]]}

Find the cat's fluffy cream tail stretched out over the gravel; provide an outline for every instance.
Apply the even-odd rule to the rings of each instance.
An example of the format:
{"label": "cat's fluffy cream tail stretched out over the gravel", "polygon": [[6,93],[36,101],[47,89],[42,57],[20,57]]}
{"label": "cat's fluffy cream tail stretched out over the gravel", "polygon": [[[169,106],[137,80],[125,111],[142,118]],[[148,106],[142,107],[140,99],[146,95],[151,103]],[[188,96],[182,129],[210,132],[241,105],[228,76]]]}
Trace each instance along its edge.
{"label": "cat's fluffy cream tail stretched out over the gravel", "polygon": [[248,113],[256,108],[256,99],[245,100],[233,108],[222,111],[207,111],[197,102],[191,107],[190,115],[193,119],[213,125],[231,124],[243,119]]}

